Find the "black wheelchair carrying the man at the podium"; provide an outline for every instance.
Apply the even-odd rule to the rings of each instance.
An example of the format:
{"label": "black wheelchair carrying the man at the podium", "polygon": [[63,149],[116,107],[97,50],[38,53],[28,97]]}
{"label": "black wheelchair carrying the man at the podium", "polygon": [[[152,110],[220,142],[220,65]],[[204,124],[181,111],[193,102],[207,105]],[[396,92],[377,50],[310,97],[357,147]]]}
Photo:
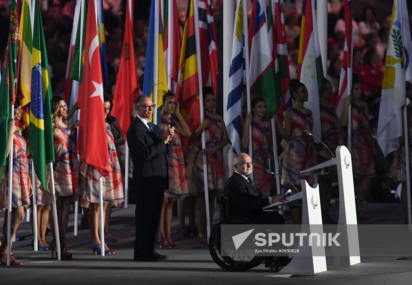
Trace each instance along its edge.
{"label": "black wheelchair carrying the man at the podium", "polygon": [[[254,244],[244,242],[238,250],[232,240],[232,236],[222,236],[222,225],[239,225],[239,224],[254,224],[252,221],[242,217],[227,218],[227,198],[221,197],[220,203],[225,205],[225,211],[223,211],[223,221],[215,226],[211,232],[209,238],[209,252],[213,261],[222,269],[230,272],[242,272],[255,268],[262,263],[265,263],[265,267],[269,267],[270,271],[278,272],[284,266],[288,265],[291,258],[288,257],[260,257],[255,255],[255,248],[246,248],[245,244]],[[229,246],[222,246],[221,241],[225,240],[225,244]],[[247,241],[254,240],[254,236],[249,236]],[[256,247],[257,248],[257,247]],[[222,253],[224,253],[222,255]]]}

